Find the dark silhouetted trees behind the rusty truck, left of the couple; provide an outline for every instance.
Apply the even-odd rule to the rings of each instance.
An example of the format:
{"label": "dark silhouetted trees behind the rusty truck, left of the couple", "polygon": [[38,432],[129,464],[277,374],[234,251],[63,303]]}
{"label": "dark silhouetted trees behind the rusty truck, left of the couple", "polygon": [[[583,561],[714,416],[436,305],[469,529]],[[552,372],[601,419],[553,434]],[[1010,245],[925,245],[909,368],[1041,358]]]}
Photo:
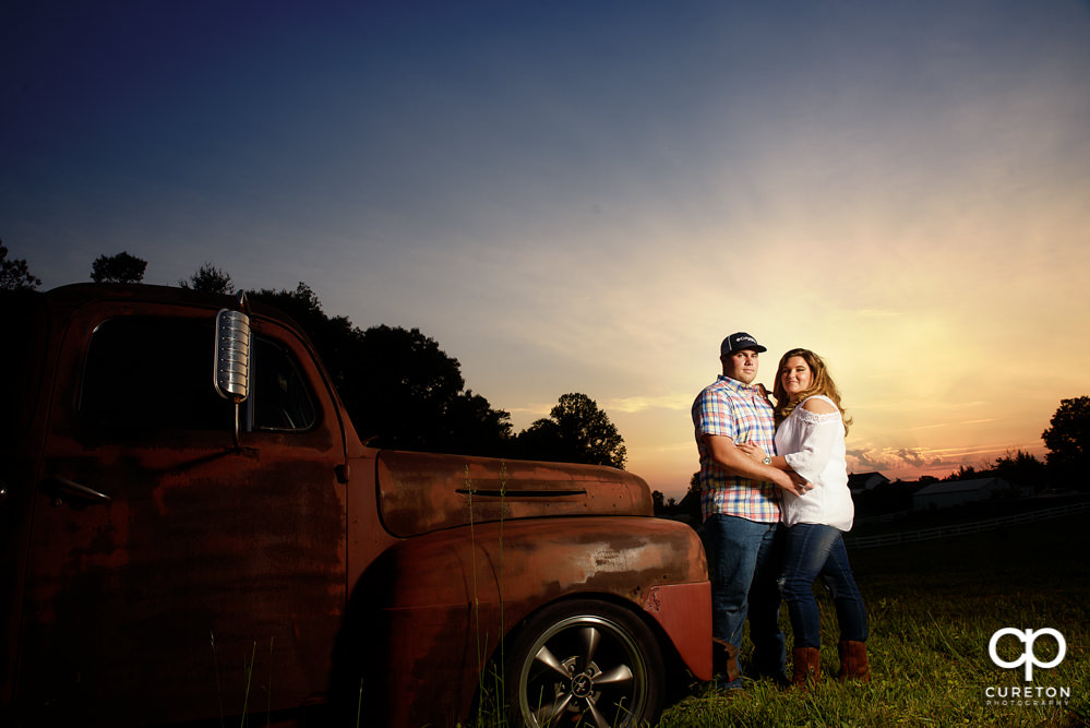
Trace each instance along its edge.
{"label": "dark silhouetted trees behind the rusty truck, left of the couple", "polygon": [[[128,252],[100,255],[91,279],[141,283],[146,268],[146,261]],[[26,261],[10,260],[0,243],[0,289],[34,290],[40,285]],[[231,276],[212,263],[178,285],[202,293],[238,293]],[[515,433],[510,413],[467,389],[458,360],[420,330],[385,324],[361,330],[346,317],[327,315],[304,283],[295,290],[266,288],[247,295],[302,326],[357,432],[373,446],[624,467],[624,439],[586,394],[562,395],[549,417]]]}

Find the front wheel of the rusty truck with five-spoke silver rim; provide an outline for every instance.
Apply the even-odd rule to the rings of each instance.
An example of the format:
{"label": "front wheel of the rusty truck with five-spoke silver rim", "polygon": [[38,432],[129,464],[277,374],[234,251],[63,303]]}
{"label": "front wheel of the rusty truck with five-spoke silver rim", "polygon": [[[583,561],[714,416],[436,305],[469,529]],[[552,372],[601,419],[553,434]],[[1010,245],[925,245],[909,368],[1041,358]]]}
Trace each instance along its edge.
{"label": "front wheel of the rusty truck with five-spoke silver rim", "polygon": [[528,728],[654,724],[662,708],[658,642],[607,601],[547,607],[526,623],[505,676],[512,723]]}

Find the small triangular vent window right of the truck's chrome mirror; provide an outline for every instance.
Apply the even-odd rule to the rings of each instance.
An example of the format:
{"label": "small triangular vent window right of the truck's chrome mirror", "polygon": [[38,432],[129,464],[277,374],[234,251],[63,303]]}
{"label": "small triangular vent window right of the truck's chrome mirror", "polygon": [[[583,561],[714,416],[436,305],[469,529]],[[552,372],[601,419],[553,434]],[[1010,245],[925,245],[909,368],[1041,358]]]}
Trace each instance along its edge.
{"label": "small triangular vent window right of the truck's chrome mirror", "polygon": [[279,344],[254,337],[253,429],[308,430],[313,427],[314,398],[295,358]]}

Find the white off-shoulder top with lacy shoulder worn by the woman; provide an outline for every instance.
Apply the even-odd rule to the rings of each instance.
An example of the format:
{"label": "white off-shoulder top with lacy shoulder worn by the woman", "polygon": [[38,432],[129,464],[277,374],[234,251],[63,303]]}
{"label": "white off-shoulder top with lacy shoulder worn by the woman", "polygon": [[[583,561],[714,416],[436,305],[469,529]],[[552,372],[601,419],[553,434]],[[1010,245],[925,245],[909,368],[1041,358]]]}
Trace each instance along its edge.
{"label": "white off-shoulder top with lacy shoulder worn by the woman", "polygon": [[[828,397],[816,396],[836,407]],[[817,414],[803,409],[800,402],[776,430],[776,452],[814,486],[804,496],[781,491],[780,521],[787,526],[819,523],[850,530],[855,505],[848,490],[845,426],[839,407]]]}

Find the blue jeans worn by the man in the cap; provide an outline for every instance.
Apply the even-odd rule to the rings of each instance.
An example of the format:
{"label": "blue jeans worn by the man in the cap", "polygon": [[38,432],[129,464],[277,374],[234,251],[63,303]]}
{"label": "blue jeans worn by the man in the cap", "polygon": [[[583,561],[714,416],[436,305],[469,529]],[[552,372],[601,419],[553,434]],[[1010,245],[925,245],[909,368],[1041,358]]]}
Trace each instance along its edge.
{"label": "blue jeans worn by the man in the cap", "polygon": [[711,636],[735,648],[750,619],[753,671],[782,676],[786,663],[780,631],[779,526],[716,514],[704,522],[711,572]]}

